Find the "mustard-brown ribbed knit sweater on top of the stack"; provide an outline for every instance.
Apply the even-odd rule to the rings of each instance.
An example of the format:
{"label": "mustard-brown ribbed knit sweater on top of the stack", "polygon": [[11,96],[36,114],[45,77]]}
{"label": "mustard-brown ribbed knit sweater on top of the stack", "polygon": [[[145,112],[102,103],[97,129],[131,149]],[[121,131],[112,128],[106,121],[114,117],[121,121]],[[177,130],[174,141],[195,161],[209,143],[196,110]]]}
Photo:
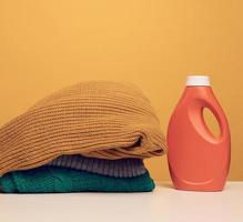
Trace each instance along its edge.
{"label": "mustard-brown ribbed knit sweater on top of the stack", "polygon": [[165,150],[159,120],[139,89],[90,81],[51,94],[0,129],[0,175],[62,154],[144,159]]}

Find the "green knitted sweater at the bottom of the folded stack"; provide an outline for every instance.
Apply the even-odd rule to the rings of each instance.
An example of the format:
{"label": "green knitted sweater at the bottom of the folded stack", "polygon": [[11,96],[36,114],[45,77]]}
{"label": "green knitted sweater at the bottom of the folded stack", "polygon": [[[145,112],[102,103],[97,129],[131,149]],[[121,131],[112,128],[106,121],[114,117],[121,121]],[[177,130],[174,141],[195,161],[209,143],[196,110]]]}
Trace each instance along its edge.
{"label": "green knitted sweater at the bottom of the folded stack", "polygon": [[14,171],[0,178],[6,193],[68,193],[68,192],[149,192],[154,182],[149,172],[134,178],[112,178],[80,170],[41,167]]}

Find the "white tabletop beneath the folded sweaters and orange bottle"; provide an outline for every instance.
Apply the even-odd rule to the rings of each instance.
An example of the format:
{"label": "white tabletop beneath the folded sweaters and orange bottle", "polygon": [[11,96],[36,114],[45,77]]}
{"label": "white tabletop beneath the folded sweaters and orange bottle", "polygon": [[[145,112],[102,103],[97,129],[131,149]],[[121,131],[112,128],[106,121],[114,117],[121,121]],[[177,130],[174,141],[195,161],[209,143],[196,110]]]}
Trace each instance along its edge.
{"label": "white tabletop beneath the folded sweaters and orange bottle", "polygon": [[243,222],[243,182],[223,192],[0,194],[0,222]]}

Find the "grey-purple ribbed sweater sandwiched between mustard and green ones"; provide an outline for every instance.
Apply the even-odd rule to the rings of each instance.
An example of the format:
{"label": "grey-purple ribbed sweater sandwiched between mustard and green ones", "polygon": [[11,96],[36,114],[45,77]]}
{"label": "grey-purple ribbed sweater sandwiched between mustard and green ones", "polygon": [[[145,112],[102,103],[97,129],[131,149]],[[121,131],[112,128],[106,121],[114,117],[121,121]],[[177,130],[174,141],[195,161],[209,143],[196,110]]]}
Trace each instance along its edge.
{"label": "grey-purple ribbed sweater sandwiched between mustard and green ones", "polygon": [[142,175],[146,169],[141,159],[103,160],[82,155],[61,155],[48,165],[63,167],[114,178],[133,178]]}

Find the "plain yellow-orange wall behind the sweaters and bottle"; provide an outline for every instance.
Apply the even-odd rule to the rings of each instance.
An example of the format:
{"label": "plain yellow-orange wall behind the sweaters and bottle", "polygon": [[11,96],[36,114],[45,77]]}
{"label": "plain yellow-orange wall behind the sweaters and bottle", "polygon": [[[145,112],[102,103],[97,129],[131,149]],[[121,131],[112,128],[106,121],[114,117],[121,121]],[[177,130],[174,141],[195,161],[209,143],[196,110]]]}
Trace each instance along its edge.
{"label": "plain yellow-orange wall behind the sweaters and bottle", "polygon": [[[142,88],[166,132],[186,74],[210,74],[231,125],[230,180],[243,180],[242,12],[241,0],[0,0],[0,124],[105,79]],[[146,164],[169,179],[165,157]]]}

